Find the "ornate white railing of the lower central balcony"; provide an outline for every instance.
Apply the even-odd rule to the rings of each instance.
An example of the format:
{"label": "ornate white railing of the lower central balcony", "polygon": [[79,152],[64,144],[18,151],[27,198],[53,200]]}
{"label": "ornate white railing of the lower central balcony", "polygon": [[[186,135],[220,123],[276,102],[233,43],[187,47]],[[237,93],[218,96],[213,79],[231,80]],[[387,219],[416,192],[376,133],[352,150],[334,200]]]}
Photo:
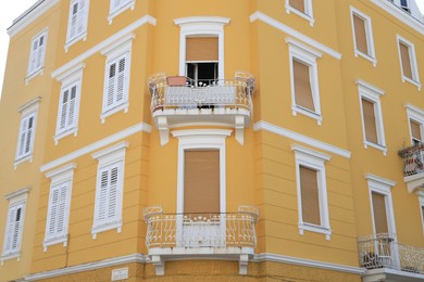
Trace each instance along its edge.
{"label": "ornate white railing of the lower central balcony", "polygon": [[148,226],[146,245],[148,248],[254,248],[259,214],[259,208],[250,206],[225,214],[163,214],[161,207],[147,207],[144,210]]}

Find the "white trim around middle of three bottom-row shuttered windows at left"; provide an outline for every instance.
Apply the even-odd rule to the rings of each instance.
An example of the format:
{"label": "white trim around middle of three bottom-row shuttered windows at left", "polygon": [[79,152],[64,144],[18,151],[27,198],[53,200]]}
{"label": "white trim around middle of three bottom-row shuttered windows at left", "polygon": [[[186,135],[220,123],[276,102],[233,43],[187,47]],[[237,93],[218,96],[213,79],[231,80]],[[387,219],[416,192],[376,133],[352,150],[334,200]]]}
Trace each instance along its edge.
{"label": "white trim around middle of three bottom-row shuttered windows at left", "polygon": [[[50,195],[49,195],[49,206],[47,210],[46,216],[46,231],[45,231],[45,240],[42,242],[43,252],[47,252],[47,247],[63,243],[63,246],[67,246],[67,230],[70,225],[70,214],[71,214],[71,198],[72,198],[72,185],[73,185],[73,179],[74,179],[74,170],[76,168],[76,164],[68,164],[63,167],[60,167],[53,171],[49,171],[46,174],[47,178],[51,179],[50,183]],[[64,226],[65,226],[65,234],[63,236],[53,236],[49,238],[48,235],[48,228],[49,228],[49,217],[51,214],[51,200],[52,200],[52,188],[55,185],[62,184],[64,182],[68,182],[68,191],[66,196],[66,208],[65,208],[65,215],[64,215]]]}

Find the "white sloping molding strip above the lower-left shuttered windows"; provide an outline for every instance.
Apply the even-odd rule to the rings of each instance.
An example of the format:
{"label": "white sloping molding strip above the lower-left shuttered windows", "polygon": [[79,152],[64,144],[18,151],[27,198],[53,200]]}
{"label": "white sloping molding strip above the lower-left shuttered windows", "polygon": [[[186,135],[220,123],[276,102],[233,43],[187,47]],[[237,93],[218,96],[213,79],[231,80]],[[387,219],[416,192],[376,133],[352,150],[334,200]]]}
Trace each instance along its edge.
{"label": "white sloping molding strip above the lower-left shuttered windows", "polygon": [[116,132],[112,136],[109,136],[104,139],[101,139],[97,142],[93,142],[87,146],[84,146],[79,150],[76,150],[72,153],[68,153],[62,157],[59,157],[52,162],[49,162],[42,166],[40,166],[40,171],[41,172],[46,172],[54,167],[58,167],[58,166],[61,166],[63,164],[66,164],[68,162],[72,162],[73,159],[77,158],[77,157],[80,157],[80,156],[84,156],[86,154],[89,154],[91,153],[92,151],[97,151],[103,146],[107,146],[109,144],[112,144],[112,143],[115,143],[124,138],[127,138],[129,136],[133,136],[135,133],[138,133],[138,132],[147,132],[147,133],[150,133],[151,132],[151,126],[148,125],[148,124],[145,124],[145,123],[140,123],[140,124],[137,124],[135,126],[132,126],[132,127],[128,127],[120,132]]}

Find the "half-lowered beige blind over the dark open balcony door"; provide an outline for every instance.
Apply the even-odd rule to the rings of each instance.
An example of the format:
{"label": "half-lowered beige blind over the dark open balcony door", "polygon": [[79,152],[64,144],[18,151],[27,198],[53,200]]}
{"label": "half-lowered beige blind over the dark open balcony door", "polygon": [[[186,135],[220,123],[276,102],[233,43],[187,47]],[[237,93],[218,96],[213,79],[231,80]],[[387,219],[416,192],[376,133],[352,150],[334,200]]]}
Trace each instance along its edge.
{"label": "half-lowered beige blind over the dark open balcony door", "polygon": [[186,61],[217,61],[217,37],[187,37]]}

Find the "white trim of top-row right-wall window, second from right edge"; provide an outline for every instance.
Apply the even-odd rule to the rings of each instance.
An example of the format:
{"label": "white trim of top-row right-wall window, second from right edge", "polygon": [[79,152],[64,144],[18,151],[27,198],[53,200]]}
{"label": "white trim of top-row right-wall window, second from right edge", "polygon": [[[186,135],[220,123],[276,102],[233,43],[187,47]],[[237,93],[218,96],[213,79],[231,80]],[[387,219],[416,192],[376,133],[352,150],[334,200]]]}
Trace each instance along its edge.
{"label": "white trim of top-row right-wall window, second from right edge", "polygon": [[[360,17],[364,21],[365,24],[365,36],[366,36],[366,48],[369,51],[369,54],[362,53],[357,48],[357,38],[356,38],[356,31],[354,31],[354,22],[353,22],[353,15]],[[359,11],[358,9],[350,7],[350,22],[352,25],[352,36],[353,36],[353,46],[354,46],[354,56],[362,56],[373,63],[373,66],[377,66],[377,59],[375,55],[375,48],[374,48],[374,37],[373,37],[373,27],[371,23],[371,17]]]}

